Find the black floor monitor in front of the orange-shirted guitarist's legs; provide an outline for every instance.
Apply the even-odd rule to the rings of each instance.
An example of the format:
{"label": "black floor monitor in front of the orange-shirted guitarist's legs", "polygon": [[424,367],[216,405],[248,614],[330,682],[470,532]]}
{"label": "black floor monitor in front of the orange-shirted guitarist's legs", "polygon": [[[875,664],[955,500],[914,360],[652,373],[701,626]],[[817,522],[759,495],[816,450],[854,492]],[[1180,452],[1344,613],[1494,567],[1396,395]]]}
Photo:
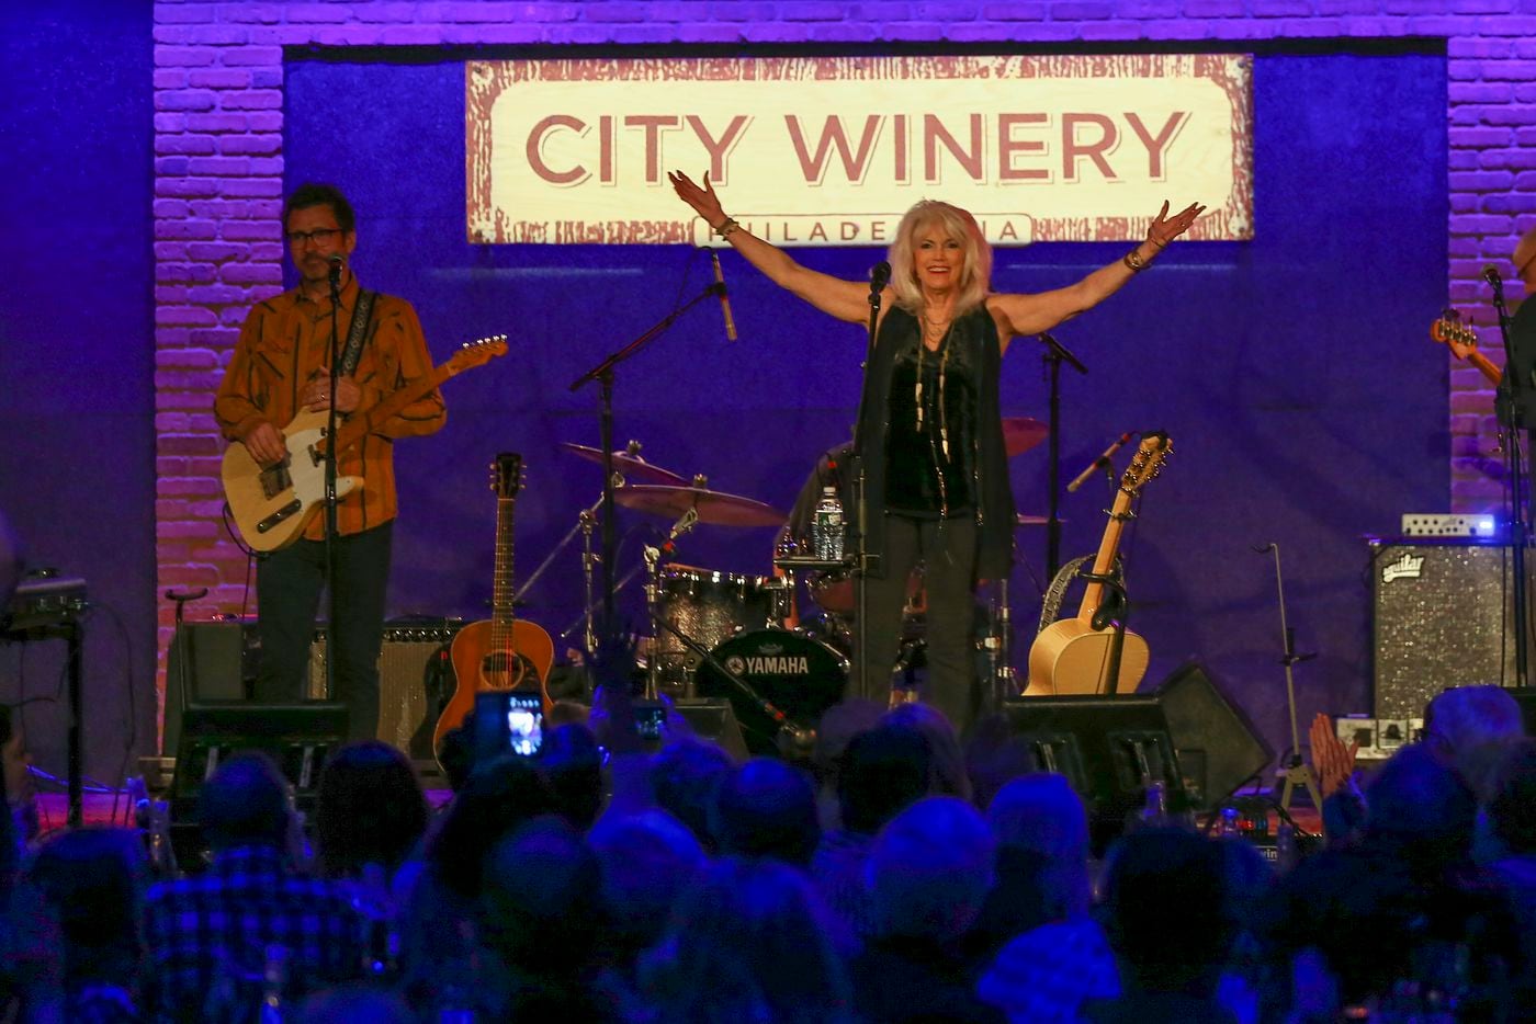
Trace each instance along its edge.
{"label": "black floor monitor in front of the orange-shirted guitarist's legs", "polygon": [[243,751],[261,751],[276,761],[304,809],[313,803],[326,758],[346,742],[344,705],[189,705],[181,715],[170,817],[194,818],[203,783]]}

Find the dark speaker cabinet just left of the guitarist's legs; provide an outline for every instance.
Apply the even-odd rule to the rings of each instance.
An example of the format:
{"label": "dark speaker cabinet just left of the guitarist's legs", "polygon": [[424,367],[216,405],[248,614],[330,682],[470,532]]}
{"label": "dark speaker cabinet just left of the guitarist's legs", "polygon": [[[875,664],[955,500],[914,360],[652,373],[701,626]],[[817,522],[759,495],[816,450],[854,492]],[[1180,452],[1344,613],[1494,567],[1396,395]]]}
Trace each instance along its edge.
{"label": "dark speaker cabinet just left of the guitarist's legs", "polygon": [[249,700],[260,662],[261,640],[257,637],[255,622],[183,622],[166,656],[161,754],[174,755],[181,742],[183,708]]}

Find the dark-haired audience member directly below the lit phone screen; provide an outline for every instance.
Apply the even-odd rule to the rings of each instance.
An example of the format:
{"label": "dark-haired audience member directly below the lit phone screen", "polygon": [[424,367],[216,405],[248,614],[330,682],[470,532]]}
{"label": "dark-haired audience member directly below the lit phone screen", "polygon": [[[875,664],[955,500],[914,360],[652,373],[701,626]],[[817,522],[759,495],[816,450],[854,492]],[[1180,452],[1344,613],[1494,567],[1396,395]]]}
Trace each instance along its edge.
{"label": "dark-haired audience member directly below the lit phone screen", "polygon": [[502,755],[478,765],[427,837],[413,880],[396,886],[406,998],[418,1010],[439,996],[438,981],[467,970],[479,947],[479,898],[487,854],[554,803],[530,758]]}

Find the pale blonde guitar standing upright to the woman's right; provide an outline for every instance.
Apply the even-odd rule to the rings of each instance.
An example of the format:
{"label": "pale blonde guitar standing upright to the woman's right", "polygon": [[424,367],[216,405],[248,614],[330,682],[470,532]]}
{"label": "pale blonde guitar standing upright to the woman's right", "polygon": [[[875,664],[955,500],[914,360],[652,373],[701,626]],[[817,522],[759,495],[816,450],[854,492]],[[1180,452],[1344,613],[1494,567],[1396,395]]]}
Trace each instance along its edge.
{"label": "pale blonde guitar standing upright to the woman's right", "polygon": [[[1109,692],[1109,652],[1115,637],[1114,628],[1095,629],[1094,613],[1104,603],[1106,577],[1120,553],[1120,534],[1134,513],[1130,504],[1141,494],[1147,481],[1163,471],[1163,462],[1174,451],[1174,442],[1166,434],[1146,434],[1141,447],[1130,459],[1130,467],[1120,477],[1115,504],[1109,510],[1104,539],[1094,556],[1094,568],[1083,591],[1083,603],[1077,617],[1052,622],[1040,631],[1029,648],[1029,686],[1025,697],[1051,697],[1057,694],[1104,694]],[[1126,629],[1120,649],[1120,682],[1117,692],[1130,692],[1147,671],[1150,652],[1147,642]]]}

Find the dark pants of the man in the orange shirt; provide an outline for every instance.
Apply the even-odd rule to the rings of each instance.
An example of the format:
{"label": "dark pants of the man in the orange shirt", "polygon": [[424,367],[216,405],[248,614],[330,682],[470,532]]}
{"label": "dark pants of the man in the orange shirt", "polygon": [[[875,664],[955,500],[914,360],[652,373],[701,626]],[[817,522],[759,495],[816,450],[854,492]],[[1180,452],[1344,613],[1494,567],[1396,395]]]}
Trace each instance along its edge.
{"label": "dark pants of the man in the orange shirt", "polygon": [[[384,646],[384,596],[389,586],[393,522],[336,537],[336,619],[326,656],[335,659],[333,700],[347,705],[353,740],[378,734],[379,649]],[[309,645],[326,588],[326,542],[304,540],[273,551],[257,567],[257,633],[261,671],[257,700],[306,699]]]}

